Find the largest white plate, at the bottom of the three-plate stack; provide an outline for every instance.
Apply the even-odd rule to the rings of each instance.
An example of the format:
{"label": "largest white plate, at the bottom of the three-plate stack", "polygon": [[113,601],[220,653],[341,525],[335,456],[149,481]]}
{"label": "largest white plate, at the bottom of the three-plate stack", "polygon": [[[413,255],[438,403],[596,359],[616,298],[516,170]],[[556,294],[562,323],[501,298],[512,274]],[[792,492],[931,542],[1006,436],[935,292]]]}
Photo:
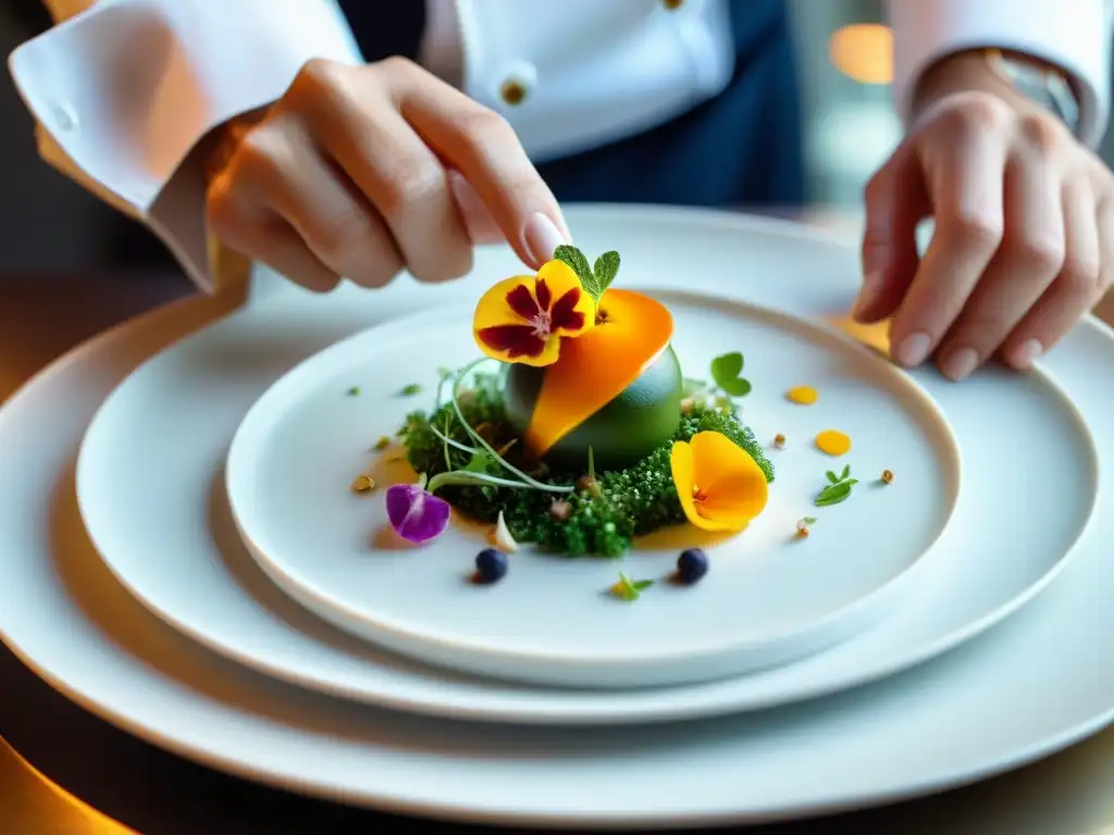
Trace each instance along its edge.
{"label": "largest white plate, at the bottom of the three-plate stack", "polygon": [[[570,214],[574,229],[586,215],[606,219]],[[283,324],[310,341],[324,330],[314,311],[343,320],[336,305],[355,299],[342,293],[317,305],[299,295],[290,301],[309,307],[305,316]],[[647,829],[893,800],[989,776],[1114,719],[1114,570],[1102,522],[1048,592],[1001,628],[881,685],[755,716],[636,729],[495,728],[409,718],[253,675],[199,650],[124,593],[84,539],[74,503],[70,468],[86,422],[128,367],[182,333],[172,315],[117,331],[0,412],[0,635],[55,687],[178,754],[383,808]],[[245,371],[251,343],[265,336],[241,316],[192,343],[207,344],[215,364]],[[233,345],[242,353],[222,354]],[[1108,472],[1111,395],[1097,381],[1114,367],[1111,334],[1088,324],[1047,365],[1103,433]],[[1101,502],[1100,519],[1108,518],[1108,490]],[[158,559],[157,549],[150,554]]]}

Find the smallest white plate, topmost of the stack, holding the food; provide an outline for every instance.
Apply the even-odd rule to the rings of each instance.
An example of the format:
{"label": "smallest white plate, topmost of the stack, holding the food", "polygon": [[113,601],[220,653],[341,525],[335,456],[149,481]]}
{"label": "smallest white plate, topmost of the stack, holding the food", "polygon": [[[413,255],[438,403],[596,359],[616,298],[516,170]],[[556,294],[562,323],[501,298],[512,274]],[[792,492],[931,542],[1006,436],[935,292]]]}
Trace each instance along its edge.
{"label": "smallest white plate, topmost of the stack, holding the food", "polygon": [[[433,405],[399,391],[436,389],[438,365],[475,353],[473,305],[372,328],[267,390],[228,453],[228,500],[248,549],[280,588],[342,629],[429,664],[554,686],[729,678],[836,645],[889,613],[959,497],[959,446],[944,415],[903,372],[848,337],[723,297],[657,296],[673,313],[685,373],[706,376],[713,357],[744,351],[754,386],[743,401],[747,422],[768,441],[793,438],[804,453],[770,452],[770,504],[744,533],[707,548],[705,581],[668,582],[678,542],[703,544],[677,530],[672,546],[638,543],[618,564],[522,549],[502,581],[479,587],[469,581],[485,547],[475,525],[404,548],[390,536],[382,494],[352,494],[369,436],[392,436],[409,412]],[[820,390],[814,406],[785,400],[802,383]],[[345,396],[352,386],[359,396]],[[852,438],[838,461],[808,442],[828,426]],[[861,485],[817,509],[825,470],[844,464]],[[879,481],[886,468],[901,473],[898,488]],[[804,543],[795,524],[811,515],[819,521]],[[637,606],[608,593],[620,569],[656,581]]]}

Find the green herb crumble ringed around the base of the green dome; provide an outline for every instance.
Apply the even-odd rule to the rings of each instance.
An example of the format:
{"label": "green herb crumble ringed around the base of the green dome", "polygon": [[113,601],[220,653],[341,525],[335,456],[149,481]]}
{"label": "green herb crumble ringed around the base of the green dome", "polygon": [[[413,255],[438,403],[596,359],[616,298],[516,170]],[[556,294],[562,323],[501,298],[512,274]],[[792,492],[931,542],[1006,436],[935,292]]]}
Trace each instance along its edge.
{"label": "green herb crumble ringed around the base of the green dome", "polygon": [[[466,517],[495,522],[502,511],[511,536],[540,549],[569,557],[597,554],[622,557],[634,537],[685,522],[670,465],[674,441],[688,441],[697,432],[720,432],[758,462],[766,481],[773,466],[754,433],[737,416],[737,410],[717,411],[697,403],[686,409],[673,440],[626,470],[596,473],[551,472],[531,460],[515,431],[504,419],[500,377],[477,374],[460,391],[458,403],[465,420],[512,466],[548,484],[577,484],[571,493],[551,493],[497,484],[449,484],[438,491]],[[434,429],[436,428],[436,429]],[[413,412],[399,431],[405,455],[416,472],[430,479],[450,470],[470,470],[505,478],[506,469],[494,456],[473,454],[447,444],[446,435],[465,446],[472,439],[457,420],[451,402],[432,413]]]}

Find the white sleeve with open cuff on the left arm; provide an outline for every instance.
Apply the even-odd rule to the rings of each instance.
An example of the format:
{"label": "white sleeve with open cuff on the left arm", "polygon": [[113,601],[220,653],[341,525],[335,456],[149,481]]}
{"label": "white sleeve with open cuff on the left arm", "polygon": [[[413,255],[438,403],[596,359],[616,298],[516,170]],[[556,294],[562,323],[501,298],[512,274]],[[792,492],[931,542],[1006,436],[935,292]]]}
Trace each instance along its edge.
{"label": "white sleeve with open cuff on the left arm", "polygon": [[204,179],[183,163],[312,58],[362,60],[334,0],[99,0],[18,47],[9,69],[42,156],[148,224],[212,292]]}

